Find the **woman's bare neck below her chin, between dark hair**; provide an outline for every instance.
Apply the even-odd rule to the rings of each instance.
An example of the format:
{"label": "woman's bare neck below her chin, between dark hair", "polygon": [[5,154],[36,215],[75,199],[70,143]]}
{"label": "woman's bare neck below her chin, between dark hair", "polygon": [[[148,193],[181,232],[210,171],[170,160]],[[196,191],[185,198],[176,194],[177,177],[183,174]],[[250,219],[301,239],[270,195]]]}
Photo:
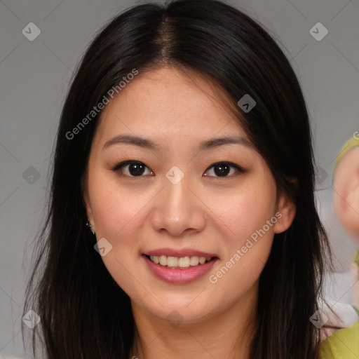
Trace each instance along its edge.
{"label": "woman's bare neck below her chin, between dark hair", "polygon": [[257,293],[256,284],[240,302],[195,323],[168,323],[133,303],[136,334],[130,358],[248,359],[257,329]]}

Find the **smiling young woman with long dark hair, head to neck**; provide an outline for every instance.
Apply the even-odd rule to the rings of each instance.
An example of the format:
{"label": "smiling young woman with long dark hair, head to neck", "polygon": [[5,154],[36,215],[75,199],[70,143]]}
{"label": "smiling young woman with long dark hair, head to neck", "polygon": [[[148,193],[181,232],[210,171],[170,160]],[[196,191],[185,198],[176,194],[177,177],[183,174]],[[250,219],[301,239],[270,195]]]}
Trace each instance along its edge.
{"label": "smiling young woman with long dark hair, head to neck", "polygon": [[302,90],[257,22],[212,0],[116,16],[57,133],[24,309],[46,357],[319,358],[313,181]]}

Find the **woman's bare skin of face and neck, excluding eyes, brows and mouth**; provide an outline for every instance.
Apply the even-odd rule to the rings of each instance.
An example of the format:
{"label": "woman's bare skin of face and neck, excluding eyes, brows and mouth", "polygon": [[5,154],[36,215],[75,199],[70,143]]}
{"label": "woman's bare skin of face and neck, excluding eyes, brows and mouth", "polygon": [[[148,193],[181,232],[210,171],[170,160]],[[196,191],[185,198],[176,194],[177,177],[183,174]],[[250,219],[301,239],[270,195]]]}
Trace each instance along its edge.
{"label": "woman's bare skin of face and neck, excluding eyes, brows and mouth", "polygon": [[[140,72],[105,107],[93,139],[84,203],[97,241],[104,237],[112,245],[102,257],[104,265],[130,296],[137,358],[248,358],[259,276],[274,233],[285,231],[295,215],[295,205],[277,193],[268,165],[253,147],[224,144],[198,151],[199,142],[213,137],[248,140],[219,95],[195,72],[170,67]],[[140,135],[160,148],[114,144],[102,150],[119,134]],[[128,165],[111,170],[128,159],[147,166],[142,177],[131,177]],[[227,177],[219,177],[212,165],[220,161],[241,165],[245,172],[231,168]],[[184,173],[178,184],[165,177],[173,165]],[[210,283],[208,276],[278,211],[278,222]],[[165,283],[141,257],[158,248],[193,248],[219,259],[192,283]],[[176,326],[168,320],[173,311],[179,313]],[[239,351],[233,350],[236,342]]]}

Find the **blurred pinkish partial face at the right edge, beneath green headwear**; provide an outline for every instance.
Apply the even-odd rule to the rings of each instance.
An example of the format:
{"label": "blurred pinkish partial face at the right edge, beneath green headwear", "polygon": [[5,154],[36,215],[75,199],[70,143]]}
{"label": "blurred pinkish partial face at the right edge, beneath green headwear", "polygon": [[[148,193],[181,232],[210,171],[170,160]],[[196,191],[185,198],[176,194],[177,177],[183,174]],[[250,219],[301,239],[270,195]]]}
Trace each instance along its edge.
{"label": "blurred pinkish partial face at the right edge, beneath green headwear", "polygon": [[334,212],[344,228],[359,238],[359,147],[341,158],[334,173]]}

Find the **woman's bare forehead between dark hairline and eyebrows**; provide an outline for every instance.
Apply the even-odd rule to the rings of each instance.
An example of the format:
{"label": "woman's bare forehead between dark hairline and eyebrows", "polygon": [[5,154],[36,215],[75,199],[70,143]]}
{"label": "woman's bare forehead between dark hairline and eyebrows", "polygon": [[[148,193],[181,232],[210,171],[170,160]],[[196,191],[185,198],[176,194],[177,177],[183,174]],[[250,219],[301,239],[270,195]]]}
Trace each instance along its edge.
{"label": "woman's bare forehead between dark hairline and eyebrows", "polygon": [[208,139],[215,135],[246,137],[231,111],[228,96],[205,76],[164,67],[139,74],[104,107],[97,140],[117,133],[173,141]]}

